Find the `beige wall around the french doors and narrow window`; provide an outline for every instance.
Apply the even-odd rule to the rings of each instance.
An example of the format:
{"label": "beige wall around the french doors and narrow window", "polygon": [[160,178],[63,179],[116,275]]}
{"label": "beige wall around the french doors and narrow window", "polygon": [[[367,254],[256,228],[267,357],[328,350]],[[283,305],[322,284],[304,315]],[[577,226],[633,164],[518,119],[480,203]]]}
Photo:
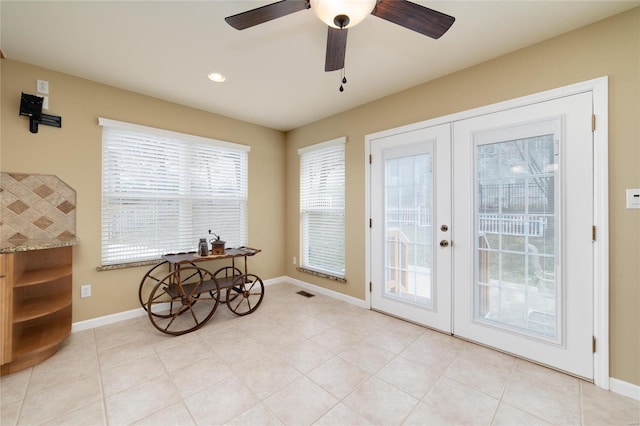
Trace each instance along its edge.
{"label": "beige wall around the french doors and narrow window", "polygon": [[[611,376],[640,385],[640,8],[397,93],[287,134],[286,274],[365,297],[365,135],[609,76]],[[347,136],[346,284],[299,273],[298,157],[303,146]]]}

